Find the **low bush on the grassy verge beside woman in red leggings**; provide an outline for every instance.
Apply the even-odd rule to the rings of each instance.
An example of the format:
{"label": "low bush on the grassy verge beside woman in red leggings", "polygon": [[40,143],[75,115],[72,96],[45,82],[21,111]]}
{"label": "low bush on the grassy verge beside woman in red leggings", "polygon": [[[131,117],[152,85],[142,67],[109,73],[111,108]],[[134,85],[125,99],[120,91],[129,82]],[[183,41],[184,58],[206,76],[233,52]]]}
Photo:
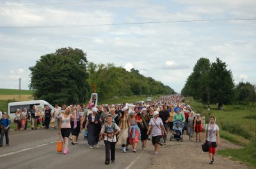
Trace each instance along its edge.
{"label": "low bush on the grassy verge beside woman in red leggings", "polygon": [[244,138],[250,138],[249,132],[238,123],[221,122],[221,128],[229,133],[243,136]]}

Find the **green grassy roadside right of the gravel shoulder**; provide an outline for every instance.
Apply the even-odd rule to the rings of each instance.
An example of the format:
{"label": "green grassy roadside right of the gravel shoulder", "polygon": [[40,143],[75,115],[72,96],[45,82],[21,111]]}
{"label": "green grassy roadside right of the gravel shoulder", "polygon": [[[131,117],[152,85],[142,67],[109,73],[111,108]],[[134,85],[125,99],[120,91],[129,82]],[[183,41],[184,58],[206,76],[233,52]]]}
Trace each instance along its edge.
{"label": "green grassy roadside right of the gravel shoulder", "polygon": [[220,136],[230,142],[242,145],[242,149],[224,149],[218,151],[222,156],[230,156],[233,160],[239,160],[250,168],[256,168],[256,111],[251,107],[241,105],[227,105],[223,110],[218,110],[217,105],[211,105],[210,112],[207,108],[193,100],[186,98],[186,102],[195,108],[195,112],[205,115],[209,118],[214,115],[216,123],[220,126]]}

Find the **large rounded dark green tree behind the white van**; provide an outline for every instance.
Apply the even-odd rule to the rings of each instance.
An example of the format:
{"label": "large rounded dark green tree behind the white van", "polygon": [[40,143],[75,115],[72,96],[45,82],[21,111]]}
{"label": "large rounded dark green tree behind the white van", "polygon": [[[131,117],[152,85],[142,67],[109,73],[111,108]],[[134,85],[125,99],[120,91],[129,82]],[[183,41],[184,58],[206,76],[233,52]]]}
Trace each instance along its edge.
{"label": "large rounded dark green tree behind the white van", "polygon": [[84,103],[89,89],[86,64],[86,53],[78,48],[60,48],[42,55],[29,68],[34,97],[52,104]]}

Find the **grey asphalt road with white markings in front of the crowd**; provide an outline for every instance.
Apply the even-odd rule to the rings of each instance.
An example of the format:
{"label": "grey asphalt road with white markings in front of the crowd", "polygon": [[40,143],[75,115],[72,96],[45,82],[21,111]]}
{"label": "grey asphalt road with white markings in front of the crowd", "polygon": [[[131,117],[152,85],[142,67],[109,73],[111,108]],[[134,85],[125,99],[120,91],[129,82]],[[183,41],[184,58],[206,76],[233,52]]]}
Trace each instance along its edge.
{"label": "grey asphalt road with white markings in front of the crowd", "polygon": [[[83,132],[81,133],[83,134]],[[29,168],[148,168],[150,159],[154,156],[153,146],[148,142],[148,151],[121,152],[116,145],[116,163],[105,165],[104,143],[99,142],[99,148],[90,149],[83,135],[79,143],[69,142],[67,155],[56,152],[58,129],[38,129],[36,131],[11,131],[10,146],[0,147],[0,168],[29,169]],[[131,149],[131,145],[129,147]]]}

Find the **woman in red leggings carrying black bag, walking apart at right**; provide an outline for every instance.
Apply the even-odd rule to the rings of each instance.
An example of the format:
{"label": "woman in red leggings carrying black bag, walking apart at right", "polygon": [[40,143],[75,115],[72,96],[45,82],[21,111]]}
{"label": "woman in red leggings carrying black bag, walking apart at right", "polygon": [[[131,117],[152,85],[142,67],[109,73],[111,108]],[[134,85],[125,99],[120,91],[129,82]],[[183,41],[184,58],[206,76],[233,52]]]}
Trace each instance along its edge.
{"label": "woman in red leggings carrying black bag, walking apart at right", "polygon": [[209,143],[209,158],[210,165],[214,162],[214,154],[216,153],[217,145],[220,145],[220,128],[215,124],[216,118],[210,117],[210,123],[205,125],[204,142]]}

